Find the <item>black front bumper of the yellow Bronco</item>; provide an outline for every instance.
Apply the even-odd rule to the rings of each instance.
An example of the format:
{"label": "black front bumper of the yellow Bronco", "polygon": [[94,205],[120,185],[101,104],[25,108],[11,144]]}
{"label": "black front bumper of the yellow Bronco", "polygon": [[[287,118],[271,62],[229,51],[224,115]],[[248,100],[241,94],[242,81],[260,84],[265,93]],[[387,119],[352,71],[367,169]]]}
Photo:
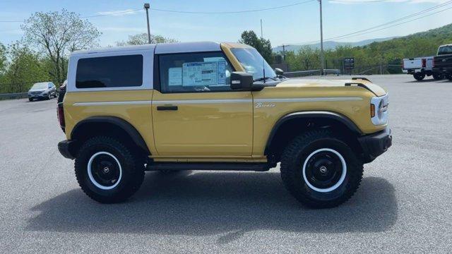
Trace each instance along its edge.
{"label": "black front bumper of the yellow Bronco", "polygon": [[362,147],[364,163],[369,163],[391,147],[393,144],[393,136],[391,134],[391,129],[385,128],[378,133],[359,137],[358,141]]}

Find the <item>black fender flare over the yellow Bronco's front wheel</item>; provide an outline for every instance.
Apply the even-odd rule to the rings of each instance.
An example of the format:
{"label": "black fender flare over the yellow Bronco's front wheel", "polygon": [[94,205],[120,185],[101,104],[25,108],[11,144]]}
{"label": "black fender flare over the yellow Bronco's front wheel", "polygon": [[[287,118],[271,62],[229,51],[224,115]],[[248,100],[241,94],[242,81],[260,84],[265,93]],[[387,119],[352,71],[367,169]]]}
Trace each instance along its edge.
{"label": "black fender flare over the yellow Bronco's front wheel", "polygon": [[292,112],[290,114],[286,114],[285,116],[282,116],[278,121],[275,123],[275,126],[273,126],[273,129],[270,131],[270,135],[268,135],[265,154],[268,154],[268,151],[270,150],[270,147],[272,145],[273,139],[275,138],[276,133],[278,133],[278,129],[280,126],[283,126],[283,124],[287,121],[290,121],[292,119],[333,119],[335,121],[339,121],[340,123],[343,123],[347,128],[350,129],[353,133],[357,133],[357,135],[362,135],[362,131],[359,130],[359,128],[356,126],[356,124],[350,120],[347,116],[344,116],[342,114],[338,114],[331,111],[298,111],[298,112]]}

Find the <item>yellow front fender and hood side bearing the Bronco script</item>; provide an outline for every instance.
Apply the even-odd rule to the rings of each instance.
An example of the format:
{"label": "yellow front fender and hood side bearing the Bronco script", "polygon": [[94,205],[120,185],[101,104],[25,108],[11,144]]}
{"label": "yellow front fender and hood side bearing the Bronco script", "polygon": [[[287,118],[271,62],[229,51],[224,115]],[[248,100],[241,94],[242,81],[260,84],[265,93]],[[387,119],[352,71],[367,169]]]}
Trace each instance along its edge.
{"label": "yellow front fender and hood side bearing the Bronco script", "polygon": [[[386,125],[371,123],[370,97],[373,93],[362,87],[266,87],[253,92],[254,150],[263,155],[270,132],[283,116],[302,111],[327,111],[350,119],[362,133],[375,133]],[[292,101],[290,101],[292,99]]]}

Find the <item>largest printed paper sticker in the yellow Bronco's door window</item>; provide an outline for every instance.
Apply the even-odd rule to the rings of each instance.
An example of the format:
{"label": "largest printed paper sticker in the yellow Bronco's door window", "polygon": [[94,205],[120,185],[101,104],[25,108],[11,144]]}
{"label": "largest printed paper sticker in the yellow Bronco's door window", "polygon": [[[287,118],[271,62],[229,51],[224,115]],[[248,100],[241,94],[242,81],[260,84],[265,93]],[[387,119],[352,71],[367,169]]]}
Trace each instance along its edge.
{"label": "largest printed paper sticker in the yellow Bronco's door window", "polygon": [[225,83],[225,68],[224,61],[183,63],[182,85],[222,85]]}

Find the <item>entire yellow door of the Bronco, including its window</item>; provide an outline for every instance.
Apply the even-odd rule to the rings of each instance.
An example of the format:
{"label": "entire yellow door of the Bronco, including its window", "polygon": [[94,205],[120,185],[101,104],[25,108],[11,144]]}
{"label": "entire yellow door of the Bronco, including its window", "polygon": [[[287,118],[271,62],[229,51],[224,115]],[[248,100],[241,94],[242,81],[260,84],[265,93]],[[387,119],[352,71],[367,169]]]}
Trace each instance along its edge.
{"label": "entire yellow door of the Bronco, including its window", "polygon": [[161,54],[153,94],[158,156],[251,157],[251,92],[230,89],[222,52]]}

